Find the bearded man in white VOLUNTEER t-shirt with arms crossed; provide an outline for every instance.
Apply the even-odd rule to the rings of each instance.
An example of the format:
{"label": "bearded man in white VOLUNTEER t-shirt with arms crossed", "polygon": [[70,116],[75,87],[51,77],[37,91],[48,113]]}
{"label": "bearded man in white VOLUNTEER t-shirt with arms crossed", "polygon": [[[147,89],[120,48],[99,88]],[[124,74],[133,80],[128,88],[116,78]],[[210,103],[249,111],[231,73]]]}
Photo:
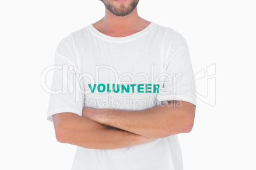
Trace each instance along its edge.
{"label": "bearded man in white VOLUNTEER t-shirt with arms crossed", "polygon": [[105,16],[60,41],[48,108],[73,169],[180,170],[178,133],[194,124],[188,46],[138,16],[139,0],[103,0]]}

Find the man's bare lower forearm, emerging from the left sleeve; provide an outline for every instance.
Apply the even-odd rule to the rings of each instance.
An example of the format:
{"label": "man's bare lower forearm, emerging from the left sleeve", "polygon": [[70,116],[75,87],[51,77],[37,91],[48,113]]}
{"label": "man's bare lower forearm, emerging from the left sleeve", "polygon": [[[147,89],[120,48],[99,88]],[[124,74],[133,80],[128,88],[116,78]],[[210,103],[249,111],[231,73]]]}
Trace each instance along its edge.
{"label": "man's bare lower forearm, emerging from the left sleeve", "polygon": [[155,140],[127,131],[106,128],[73,113],[55,114],[53,123],[58,141],[84,148],[124,148]]}

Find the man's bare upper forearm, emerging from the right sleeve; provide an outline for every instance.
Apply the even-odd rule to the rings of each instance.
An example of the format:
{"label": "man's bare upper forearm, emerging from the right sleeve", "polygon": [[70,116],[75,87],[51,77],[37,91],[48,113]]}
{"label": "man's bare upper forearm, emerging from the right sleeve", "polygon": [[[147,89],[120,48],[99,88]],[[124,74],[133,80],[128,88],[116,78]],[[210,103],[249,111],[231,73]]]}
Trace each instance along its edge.
{"label": "man's bare upper forearm, emerging from the right sleeve", "polygon": [[[181,102],[181,101],[178,101]],[[163,138],[171,134],[186,133],[194,124],[195,106],[186,101],[145,110],[99,109],[83,112],[93,121],[124,129],[147,138]]]}

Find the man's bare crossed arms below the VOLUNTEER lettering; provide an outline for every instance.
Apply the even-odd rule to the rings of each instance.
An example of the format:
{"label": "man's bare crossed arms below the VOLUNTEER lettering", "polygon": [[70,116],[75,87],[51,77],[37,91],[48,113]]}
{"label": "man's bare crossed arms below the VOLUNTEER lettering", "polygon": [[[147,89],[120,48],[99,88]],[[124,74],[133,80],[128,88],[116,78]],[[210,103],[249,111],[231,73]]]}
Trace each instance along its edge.
{"label": "man's bare crossed arms below the VOLUNTEER lettering", "polygon": [[83,108],[82,117],[73,113],[55,114],[53,124],[56,138],[62,143],[113,149],[188,133],[194,124],[195,110],[195,105],[187,101],[171,101],[138,111],[87,107]]}

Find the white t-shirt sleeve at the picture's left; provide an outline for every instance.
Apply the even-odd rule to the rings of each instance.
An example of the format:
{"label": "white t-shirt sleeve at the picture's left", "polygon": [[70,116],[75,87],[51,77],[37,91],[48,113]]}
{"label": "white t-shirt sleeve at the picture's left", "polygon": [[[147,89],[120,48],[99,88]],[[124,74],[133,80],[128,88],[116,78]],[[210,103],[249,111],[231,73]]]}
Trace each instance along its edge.
{"label": "white t-shirt sleeve at the picture's left", "polygon": [[50,102],[47,120],[52,115],[72,112],[82,115],[83,97],[80,84],[80,71],[73,47],[71,35],[59,42],[55,51],[55,69],[53,70]]}

